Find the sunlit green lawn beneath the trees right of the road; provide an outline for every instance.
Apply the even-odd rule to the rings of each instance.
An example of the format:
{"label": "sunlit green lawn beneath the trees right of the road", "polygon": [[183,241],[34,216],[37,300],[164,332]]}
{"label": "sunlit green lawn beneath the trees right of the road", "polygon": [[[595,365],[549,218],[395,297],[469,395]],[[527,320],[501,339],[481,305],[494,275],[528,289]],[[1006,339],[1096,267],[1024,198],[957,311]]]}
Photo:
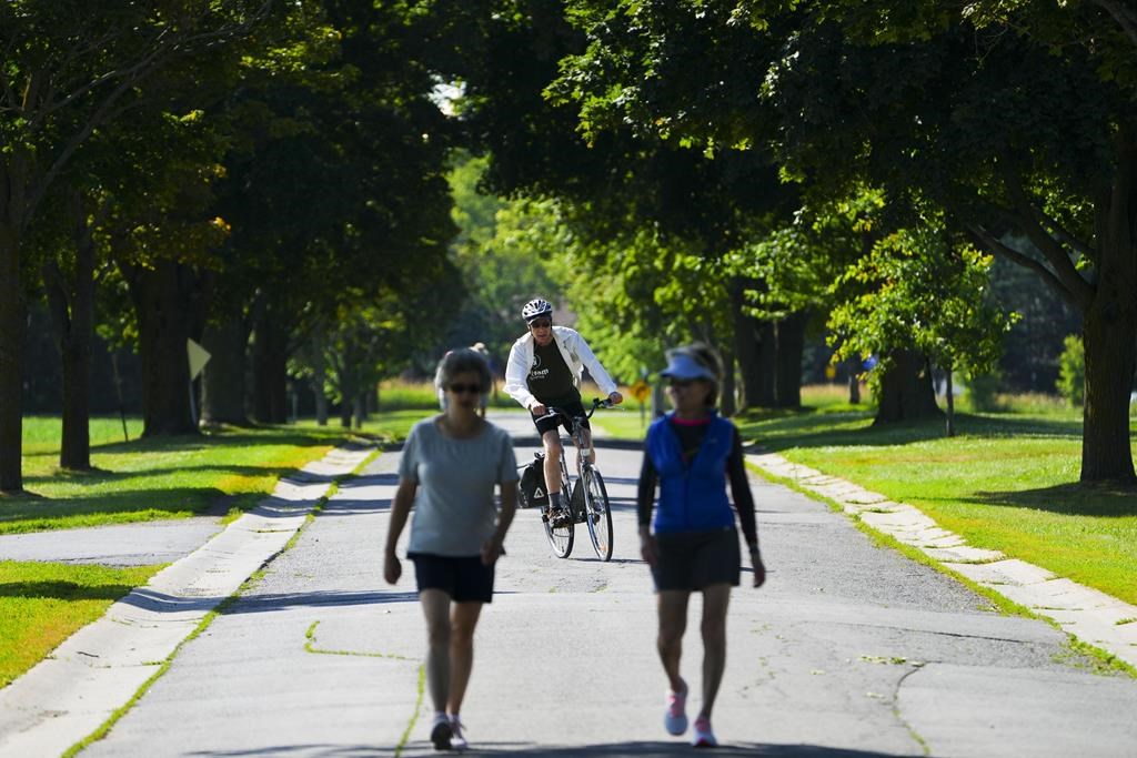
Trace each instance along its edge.
{"label": "sunlit green lawn beneath the trees right of the road", "polygon": [[[806,388],[803,402],[804,413],[735,422],[744,440],[910,503],[974,547],[1137,603],[1137,491],[1077,483],[1080,409],[1004,397],[1004,413],[958,414],[957,436],[946,438],[943,420],[873,428],[873,410],[849,406],[841,388]],[[638,414],[597,418],[641,436]]]}

